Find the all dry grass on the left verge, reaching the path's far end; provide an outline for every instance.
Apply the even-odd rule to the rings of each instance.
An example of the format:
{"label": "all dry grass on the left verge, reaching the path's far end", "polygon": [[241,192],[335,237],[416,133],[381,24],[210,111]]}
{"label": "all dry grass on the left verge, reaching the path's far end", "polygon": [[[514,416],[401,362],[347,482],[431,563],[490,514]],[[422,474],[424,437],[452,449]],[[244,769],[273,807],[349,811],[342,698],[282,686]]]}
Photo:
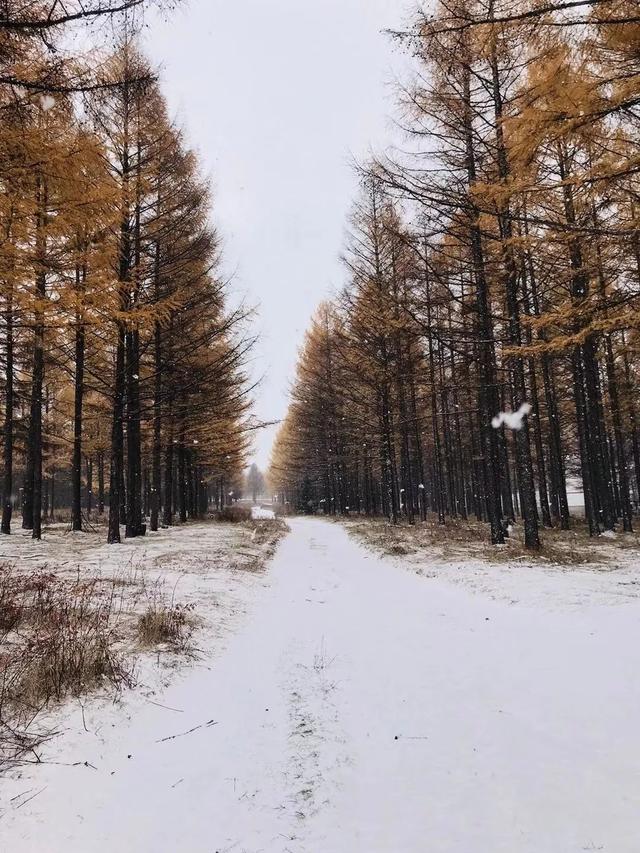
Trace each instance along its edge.
{"label": "all dry grass on the left verge, reaching the path's far end", "polygon": [[[282,522],[247,520],[246,510],[236,520],[220,553],[207,551],[207,571],[209,565],[213,571],[218,566],[261,571],[287,530]],[[57,535],[61,540],[64,534]],[[196,652],[195,605],[173,597],[185,572],[202,571],[194,568],[191,552],[168,551],[151,563],[144,555],[137,562],[132,556],[115,571],[107,561],[105,575],[101,558],[91,559],[95,541],[88,534],[70,539],[68,549],[66,543],[52,548],[58,562],[41,562],[38,570],[28,568],[34,558],[30,542],[25,560],[0,562],[0,770],[27,753],[27,760],[38,760],[38,744],[51,735],[42,730],[43,720],[55,719],[41,716],[45,709],[101,689],[132,686],[136,660],[142,657],[144,665],[152,649],[172,667],[179,665],[178,655]],[[25,545],[16,540],[13,551],[18,542]],[[48,559],[45,544],[42,550],[35,556]],[[10,559],[18,557],[12,553]],[[164,585],[174,580],[174,593],[165,595]]]}

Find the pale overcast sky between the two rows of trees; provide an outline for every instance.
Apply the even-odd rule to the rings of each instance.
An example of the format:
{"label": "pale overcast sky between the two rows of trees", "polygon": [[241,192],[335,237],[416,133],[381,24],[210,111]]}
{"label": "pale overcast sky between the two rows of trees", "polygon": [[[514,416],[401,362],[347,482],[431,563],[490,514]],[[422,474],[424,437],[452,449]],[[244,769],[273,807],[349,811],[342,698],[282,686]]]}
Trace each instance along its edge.
{"label": "pale overcast sky between the two rows of trees", "polygon": [[[214,187],[233,288],[258,306],[256,414],[287,408],[297,352],[339,262],[353,158],[390,139],[405,0],[189,0],[147,50]],[[256,437],[266,468],[275,429]]]}

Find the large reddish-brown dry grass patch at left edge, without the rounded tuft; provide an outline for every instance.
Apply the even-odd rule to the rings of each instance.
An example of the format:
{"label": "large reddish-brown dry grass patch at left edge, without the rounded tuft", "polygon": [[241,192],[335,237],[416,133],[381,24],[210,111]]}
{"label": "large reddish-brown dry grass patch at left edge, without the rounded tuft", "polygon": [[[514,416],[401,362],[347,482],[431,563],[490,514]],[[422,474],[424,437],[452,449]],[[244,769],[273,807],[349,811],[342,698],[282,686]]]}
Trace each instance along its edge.
{"label": "large reddish-brown dry grass patch at left edge, without the rounded tuft", "polygon": [[127,607],[116,584],[0,566],[0,767],[35,748],[33,723],[50,705],[132,684],[120,650]]}

